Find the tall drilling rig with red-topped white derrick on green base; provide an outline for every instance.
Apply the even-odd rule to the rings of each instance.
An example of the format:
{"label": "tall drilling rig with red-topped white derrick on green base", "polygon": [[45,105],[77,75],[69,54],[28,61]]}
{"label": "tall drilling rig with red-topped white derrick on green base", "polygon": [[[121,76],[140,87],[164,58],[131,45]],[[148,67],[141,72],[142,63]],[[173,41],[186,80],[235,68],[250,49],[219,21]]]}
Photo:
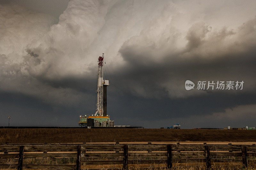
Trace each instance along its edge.
{"label": "tall drilling rig with red-topped white derrick on green base", "polygon": [[104,53],[98,58],[98,85],[96,112],[90,116],[80,116],[79,125],[85,127],[114,127],[114,121],[107,115],[107,87],[108,80],[103,80],[103,60]]}

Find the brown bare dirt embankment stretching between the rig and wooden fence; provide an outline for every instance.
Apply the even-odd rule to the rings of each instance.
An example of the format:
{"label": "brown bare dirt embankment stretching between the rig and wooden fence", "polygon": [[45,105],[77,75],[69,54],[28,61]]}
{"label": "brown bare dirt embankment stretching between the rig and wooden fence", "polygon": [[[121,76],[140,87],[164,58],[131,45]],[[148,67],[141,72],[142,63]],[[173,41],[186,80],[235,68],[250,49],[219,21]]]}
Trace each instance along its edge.
{"label": "brown bare dirt embankment stretching between the rig and wooden fence", "polygon": [[0,129],[0,143],[230,141],[254,142],[256,130]]}

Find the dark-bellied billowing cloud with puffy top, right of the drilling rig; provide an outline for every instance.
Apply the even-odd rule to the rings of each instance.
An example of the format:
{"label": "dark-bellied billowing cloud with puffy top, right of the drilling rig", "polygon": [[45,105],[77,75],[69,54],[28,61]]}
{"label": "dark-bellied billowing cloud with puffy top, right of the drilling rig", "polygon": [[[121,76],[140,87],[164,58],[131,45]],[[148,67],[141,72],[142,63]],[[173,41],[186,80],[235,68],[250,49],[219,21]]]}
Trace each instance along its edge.
{"label": "dark-bellied billowing cloud with puffy top, right of the drilling rig", "polygon": [[[246,78],[243,92],[255,93],[253,86],[255,87],[256,50],[253,46],[256,45],[256,30],[250,29],[256,26],[255,23],[256,18],[244,23],[236,33],[226,28],[211,32],[205,24],[196,23],[189,28],[186,35],[188,42],[179,52],[173,52],[162,45],[145,46],[146,42],[136,44],[144,35],[132,37],[120,48],[120,53],[128,62],[124,69],[127,74],[122,76],[129,80],[126,83],[127,88],[136,90],[134,87],[137,85],[141,93],[148,89],[145,96],[156,96],[157,90],[161,93],[162,89],[166,89],[170,97],[186,97],[195,95],[184,90],[186,80],[242,81]],[[207,33],[210,35],[205,39]],[[159,37],[161,39],[162,36]],[[168,43],[163,44],[169,46]],[[156,60],[161,57],[162,60]],[[134,76],[135,79],[140,77],[135,86],[132,81]],[[229,93],[224,91],[223,94],[226,92]]]}

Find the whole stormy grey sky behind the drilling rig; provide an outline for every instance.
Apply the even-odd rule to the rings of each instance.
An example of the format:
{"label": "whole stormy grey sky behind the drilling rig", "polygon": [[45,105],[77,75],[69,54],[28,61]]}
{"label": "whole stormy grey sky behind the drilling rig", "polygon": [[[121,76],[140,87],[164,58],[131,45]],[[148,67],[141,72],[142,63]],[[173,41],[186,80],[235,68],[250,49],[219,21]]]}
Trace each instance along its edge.
{"label": "whole stormy grey sky behind the drilling rig", "polygon": [[0,126],[8,116],[11,126],[78,126],[96,111],[105,53],[116,125],[255,127],[255,9],[253,0],[1,0]]}

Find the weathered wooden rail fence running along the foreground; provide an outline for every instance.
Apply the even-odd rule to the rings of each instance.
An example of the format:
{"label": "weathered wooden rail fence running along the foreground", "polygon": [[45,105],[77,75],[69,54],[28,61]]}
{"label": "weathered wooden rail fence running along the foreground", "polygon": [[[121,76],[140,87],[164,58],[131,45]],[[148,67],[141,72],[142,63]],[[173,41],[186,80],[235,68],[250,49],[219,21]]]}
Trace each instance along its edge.
{"label": "weathered wooden rail fence running along the foreground", "polygon": [[[213,162],[241,162],[256,156],[253,145],[183,145],[183,144],[0,144],[0,168],[10,168],[7,161],[16,160],[13,168],[76,169],[86,165],[162,164],[199,162],[211,168]],[[74,164],[28,164],[28,158],[73,158]],[[5,164],[3,164],[5,163]],[[113,169],[113,168],[111,168]]]}

